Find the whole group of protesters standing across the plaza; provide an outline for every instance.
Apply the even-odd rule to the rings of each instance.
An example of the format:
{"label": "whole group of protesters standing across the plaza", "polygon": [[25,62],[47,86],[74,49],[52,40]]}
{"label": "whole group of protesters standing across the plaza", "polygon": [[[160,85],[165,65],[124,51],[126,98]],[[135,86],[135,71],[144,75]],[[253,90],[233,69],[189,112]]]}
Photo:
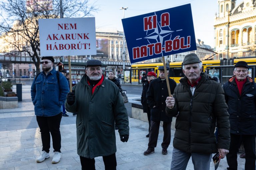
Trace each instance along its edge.
{"label": "whole group of protesters standing across the plaza", "polygon": [[[94,158],[98,156],[103,157],[106,170],[116,170],[115,129],[122,142],[129,139],[128,115],[118,78],[121,73],[115,76],[114,71],[109,71],[106,78],[101,61],[88,60],[86,74],[69,92],[69,74],[66,77],[60,74],[53,64],[53,57],[42,57],[43,71],[31,86],[43,145],[36,161],[50,157],[50,133],[54,149],[52,163],[60,161],[60,121],[67,110],[77,114],[77,153],[82,170],[95,170]],[[158,68],[158,77],[153,71],[142,77],[141,104],[149,123],[144,155],[154,153],[161,121],[162,154],[168,154],[172,118],[176,117],[171,170],[185,170],[190,158],[195,170],[209,170],[213,153],[220,153],[222,159],[226,157],[228,170],[237,170],[241,142],[245,170],[255,170],[256,84],[248,76],[248,63],[237,62],[233,76],[223,86],[218,78],[203,72],[202,62],[194,53],[184,57],[181,67],[185,76],[178,84],[170,78],[166,80],[168,66],[167,72],[164,66]]]}

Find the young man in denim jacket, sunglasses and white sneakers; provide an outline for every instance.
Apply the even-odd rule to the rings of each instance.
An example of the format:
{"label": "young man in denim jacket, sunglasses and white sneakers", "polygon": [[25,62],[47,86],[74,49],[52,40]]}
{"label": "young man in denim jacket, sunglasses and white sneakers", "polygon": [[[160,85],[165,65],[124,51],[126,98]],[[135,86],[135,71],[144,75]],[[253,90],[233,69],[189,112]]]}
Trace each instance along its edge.
{"label": "young man in denim jacket, sunglasses and white sneakers", "polygon": [[60,121],[62,118],[62,105],[69,92],[68,82],[62,74],[53,68],[52,56],[42,57],[42,69],[31,86],[31,98],[34,104],[36,120],[41,132],[42,154],[36,159],[43,162],[50,157],[50,133],[54,156],[52,163],[60,161],[61,135]]}

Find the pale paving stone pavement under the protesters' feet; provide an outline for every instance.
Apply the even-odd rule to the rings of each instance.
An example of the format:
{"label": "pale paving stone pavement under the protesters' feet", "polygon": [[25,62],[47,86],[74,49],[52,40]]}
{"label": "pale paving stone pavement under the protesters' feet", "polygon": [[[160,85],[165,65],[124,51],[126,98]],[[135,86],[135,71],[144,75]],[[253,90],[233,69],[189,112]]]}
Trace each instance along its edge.
{"label": "pale paving stone pavement under the protesters' feet", "polygon": [[[14,91],[16,86],[13,87]],[[30,97],[30,86],[22,86],[22,102],[17,109],[0,110],[0,169],[4,170],[80,170],[80,159],[76,152],[76,116],[69,113],[69,117],[61,120],[61,161],[52,164],[53,148],[50,148],[50,158],[37,163],[35,158],[41,154],[42,142],[40,131],[34,115],[34,107]],[[128,99],[140,98],[140,95],[129,95]],[[170,169],[172,160],[172,141],[168,154],[161,154],[161,140],[163,129],[159,130],[158,144],[155,153],[143,155],[147,149],[148,123],[129,118],[130,136],[127,143],[120,141],[116,130],[117,170],[166,170]],[[174,130],[171,132],[173,140]],[[52,146],[52,143],[51,143]],[[239,158],[238,169],[244,169],[245,159]],[[97,170],[104,169],[102,157],[95,158]],[[226,158],[221,160],[218,170],[227,167]],[[187,170],[193,170],[192,160],[189,160]],[[211,170],[214,170],[211,162]]]}

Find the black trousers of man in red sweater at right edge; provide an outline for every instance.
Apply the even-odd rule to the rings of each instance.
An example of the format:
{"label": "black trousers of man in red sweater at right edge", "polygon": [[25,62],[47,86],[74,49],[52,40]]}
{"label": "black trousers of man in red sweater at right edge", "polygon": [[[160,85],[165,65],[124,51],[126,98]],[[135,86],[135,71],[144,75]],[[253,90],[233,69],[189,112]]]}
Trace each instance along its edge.
{"label": "black trousers of man in red sweater at right edge", "polygon": [[[245,150],[245,170],[255,170],[255,136],[241,135]],[[240,135],[230,134],[230,148],[227,156],[228,170],[237,170],[237,147]]]}

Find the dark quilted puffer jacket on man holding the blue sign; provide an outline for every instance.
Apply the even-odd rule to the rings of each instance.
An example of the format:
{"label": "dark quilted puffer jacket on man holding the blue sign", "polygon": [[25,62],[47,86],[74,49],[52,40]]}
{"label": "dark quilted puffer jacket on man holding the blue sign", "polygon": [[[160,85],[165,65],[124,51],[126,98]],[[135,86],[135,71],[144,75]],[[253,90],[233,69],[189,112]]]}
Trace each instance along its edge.
{"label": "dark quilted puffer jacket on man holding the blue sign", "polygon": [[[190,153],[216,153],[229,149],[230,124],[227,104],[221,84],[202,72],[192,96],[187,77],[174,90],[175,106],[166,107],[168,116],[177,116],[173,147]],[[218,145],[214,135],[219,128]]]}

